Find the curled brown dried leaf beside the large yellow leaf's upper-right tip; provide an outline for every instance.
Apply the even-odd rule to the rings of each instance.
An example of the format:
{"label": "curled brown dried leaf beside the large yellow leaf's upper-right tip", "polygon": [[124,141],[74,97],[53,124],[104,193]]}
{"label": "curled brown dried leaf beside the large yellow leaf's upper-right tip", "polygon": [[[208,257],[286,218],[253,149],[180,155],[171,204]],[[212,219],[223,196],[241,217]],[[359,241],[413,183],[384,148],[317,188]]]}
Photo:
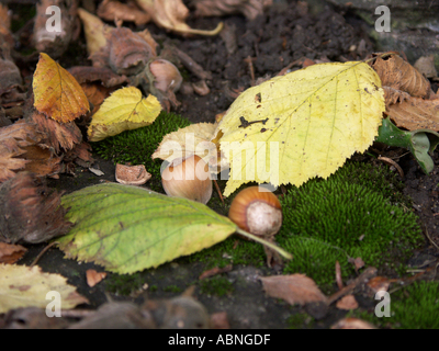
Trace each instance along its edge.
{"label": "curled brown dried leaf beside the large yellow leaf's upper-right tip", "polygon": [[398,55],[378,57],[372,65],[381,78],[383,87],[408,92],[412,97],[428,98],[430,82],[410,64]]}

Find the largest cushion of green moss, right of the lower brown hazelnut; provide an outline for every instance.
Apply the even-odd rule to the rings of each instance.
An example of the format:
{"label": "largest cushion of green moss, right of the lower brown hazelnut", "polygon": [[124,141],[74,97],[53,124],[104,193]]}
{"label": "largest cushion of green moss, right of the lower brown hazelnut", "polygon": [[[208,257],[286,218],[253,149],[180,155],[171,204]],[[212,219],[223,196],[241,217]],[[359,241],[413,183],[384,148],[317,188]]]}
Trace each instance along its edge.
{"label": "largest cushion of green moss, right of the lower brown hazelnut", "polygon": [[349,257],[399,270],[424,239],[416,215],[403,204],[409,201],[397,188],[385,168],[357,162],[327,180],[292,188],[282,200],[284,219],[277,236],[294,257],[284,273],[306,273],[329,286],[336,261],[345,279],[354,274]]}

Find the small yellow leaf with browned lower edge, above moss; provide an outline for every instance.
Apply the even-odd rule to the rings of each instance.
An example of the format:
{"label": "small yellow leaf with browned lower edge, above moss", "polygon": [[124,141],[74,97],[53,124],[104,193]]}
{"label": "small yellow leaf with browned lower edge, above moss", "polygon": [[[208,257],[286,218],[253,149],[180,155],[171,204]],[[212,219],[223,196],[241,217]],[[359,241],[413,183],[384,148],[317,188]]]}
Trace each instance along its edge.
{"label": "small yellow leaf with browned lower edge, above moss", "polygon": [[136,129],[151,124],[161,110],[154,95],[142,97],[135,87],[122,88],[104,100],[92,116],[87,132],[90,141],[99,141],[127,129]]}

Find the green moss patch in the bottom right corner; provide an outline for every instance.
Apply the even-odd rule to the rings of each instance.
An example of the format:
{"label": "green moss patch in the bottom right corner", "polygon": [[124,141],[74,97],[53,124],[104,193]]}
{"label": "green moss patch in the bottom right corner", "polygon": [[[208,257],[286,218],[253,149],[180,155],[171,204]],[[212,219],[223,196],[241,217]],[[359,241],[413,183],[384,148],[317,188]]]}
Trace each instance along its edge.
{"label": "green moss patch in the bottom right corner", "polygon": [[391,294],[390,313],[381,318],[373,310],[353,314],[381,328],[439,329],[439,282],[415,282]]}

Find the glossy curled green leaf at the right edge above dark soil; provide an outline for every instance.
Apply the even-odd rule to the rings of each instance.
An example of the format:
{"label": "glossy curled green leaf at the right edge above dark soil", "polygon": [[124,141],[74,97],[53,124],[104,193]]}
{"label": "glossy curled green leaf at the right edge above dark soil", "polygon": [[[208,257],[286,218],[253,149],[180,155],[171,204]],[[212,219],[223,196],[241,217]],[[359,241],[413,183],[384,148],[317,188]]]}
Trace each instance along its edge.
{"label": "glossy curled green leaf at the right edge above dark soil", "polygon": [[379,128],[376,141],[409,149],[427,174],[435,168],[429,152],[432,154],[439,145],[439,134],[434,131],[401,131],[387,117],[383,120],[383,124]]}

